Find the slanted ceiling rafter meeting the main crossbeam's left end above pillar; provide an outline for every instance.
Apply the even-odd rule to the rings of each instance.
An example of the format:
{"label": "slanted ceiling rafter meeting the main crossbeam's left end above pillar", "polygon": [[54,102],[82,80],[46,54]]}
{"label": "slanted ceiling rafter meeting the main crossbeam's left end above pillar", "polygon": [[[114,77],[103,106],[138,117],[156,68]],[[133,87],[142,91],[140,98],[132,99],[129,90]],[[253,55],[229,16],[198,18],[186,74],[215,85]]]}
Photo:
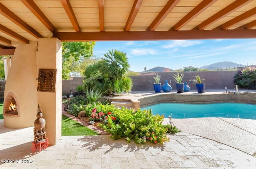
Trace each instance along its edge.
{"label": "slanted ceiling rafter meeting the main crossbeam's left end above pillar", "polygon": [[50,20],[44,15],[44,13],[38,8],[33,0],[20,0],[35,16],[49,29],[51,32],[56,31],[56,28],[52,25]]}

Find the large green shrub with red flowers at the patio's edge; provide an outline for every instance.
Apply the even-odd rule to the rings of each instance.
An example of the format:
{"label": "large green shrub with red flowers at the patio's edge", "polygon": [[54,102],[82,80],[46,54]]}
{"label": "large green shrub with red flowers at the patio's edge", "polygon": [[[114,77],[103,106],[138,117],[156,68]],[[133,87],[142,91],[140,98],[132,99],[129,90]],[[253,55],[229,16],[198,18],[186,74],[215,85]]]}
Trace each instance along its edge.
{"label": "large green shrub with red flowers at the patio's edge", "polygon": [[125,109],[107,114],[108,122],[102,125],[102,128],[111,134],[111,138],[125,138],[130,142],[145,143],[163,143],[169,140],[166,136],[168,128],[162,125],[164,116],[153,115],[150,110]]}

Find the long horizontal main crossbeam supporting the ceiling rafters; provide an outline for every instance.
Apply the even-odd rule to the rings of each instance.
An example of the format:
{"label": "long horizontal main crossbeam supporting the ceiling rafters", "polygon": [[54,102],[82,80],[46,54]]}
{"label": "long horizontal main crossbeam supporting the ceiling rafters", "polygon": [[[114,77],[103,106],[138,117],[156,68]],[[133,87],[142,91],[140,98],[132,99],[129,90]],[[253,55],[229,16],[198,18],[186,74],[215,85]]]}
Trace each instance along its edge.
{"label": "long horizontal main crossbeam supporting the ceiling rafters", "polygon": [[174,39],[232,39],[256,38],[256,29],[213,29],[189,31],[104,31],[104,32],[54,32],[60,41],[131,41]]}

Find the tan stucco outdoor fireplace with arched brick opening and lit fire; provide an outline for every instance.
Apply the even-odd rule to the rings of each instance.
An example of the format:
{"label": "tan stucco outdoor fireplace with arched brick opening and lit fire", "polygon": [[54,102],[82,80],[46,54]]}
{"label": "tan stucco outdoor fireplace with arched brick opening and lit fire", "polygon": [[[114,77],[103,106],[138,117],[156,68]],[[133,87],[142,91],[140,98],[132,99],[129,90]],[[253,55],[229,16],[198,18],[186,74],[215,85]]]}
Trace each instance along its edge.
{"label": "tan stucco outdoor fireplace with arched brick opening and lit fire", "polygon": [[4,88],[4,127],[25,128],[33,126],[37,110],[37,42],[29,44],[12,41],[16,47]]}

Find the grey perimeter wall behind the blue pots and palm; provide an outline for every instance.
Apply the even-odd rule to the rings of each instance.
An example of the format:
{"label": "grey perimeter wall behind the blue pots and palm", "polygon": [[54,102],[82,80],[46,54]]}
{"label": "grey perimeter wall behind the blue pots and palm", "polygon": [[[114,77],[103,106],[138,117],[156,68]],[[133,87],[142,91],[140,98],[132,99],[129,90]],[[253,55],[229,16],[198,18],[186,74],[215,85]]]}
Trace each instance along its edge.
{"label": "grey perimeter wall behind the blue pots and palm", "polygon": [[[227,86],[228,89],[235,88],[234,75],[237,73],[237,71],[207,71],[183,73],[183,82],[188,82],[188,86],[190,86],[190,89],[196,89],[196,85],[190,83],[189,80],[194,79],[192,76],[197,74],[200,75],[201,78],[205,79],[205,81],[203,81],[205,83],[205,89],[224,89],[225,86]],[[130,76],[133,81],[132,91],[154,90],[154,79],[151,74],[152,73],[150,73],[150,75]],[[172,82],[169,84],[172,86],[172,90],[176,90],[176,85],[173,78],[173,74],[176,74],[176,72],[162,72],[158,74],[162,76],[160,80],[162,85],[164,85],[165,79],[168,79],[168,82],[170,82],[171,80]],[[74,77],[73,80],[62,80],[62,92],[70,92],[70,90],[76,91],[76,87],[78,85],[82,85],[83,80],[84,77]]]}

